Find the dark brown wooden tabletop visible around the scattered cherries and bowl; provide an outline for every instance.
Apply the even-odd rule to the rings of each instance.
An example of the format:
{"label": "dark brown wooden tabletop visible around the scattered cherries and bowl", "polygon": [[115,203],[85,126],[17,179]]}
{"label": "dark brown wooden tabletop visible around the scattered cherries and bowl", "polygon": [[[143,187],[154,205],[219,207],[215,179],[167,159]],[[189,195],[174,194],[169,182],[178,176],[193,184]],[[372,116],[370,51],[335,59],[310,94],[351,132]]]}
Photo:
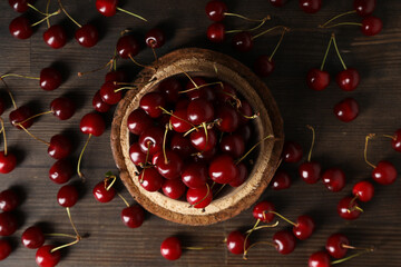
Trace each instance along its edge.
{"label": "dark brown wooden tabletop visible around the scattered cherries and bowl", "polygon": [[[56,2],[56,1],[53,1]],[[278,33],[270,33],[255,40],[254,49],[245,55],[234,52],[229,41],[223,46],[212,46],[205,37],[211,21],[204,13],[206,1],[121,1],[123,7],[146,17],[145,23],[129,16],[118,13],[113,18],[102,18],[95,9],[95,1],[63,1],[66,8],[79,22],[94,21],[101,29],[99,43],[86,49],[70,40],[65,48],[52,50],[42,41],[46,24],[37,27],[35,34],[28,40],[17,40],[8,31],[9,22],[18,16],[8,6],[0,3],[0,72],[18,72],[38,76],[39,71],[50,65],[63,70],[65,82],[51,92],[42,91],[37,81],[9,78],[18,106],[31,103],[36,111],[48,109],[50,101],[61,95],[75,97],[78,103],[77,113],[68,121],[59,121],[52,116],[45,116],[36,121],[31,131],[43,139],[50,139],[58,132],[68,132],[76,140],[75,159],[84,145],[85,138],[79,132],[81,116],[89,112],[91,97],[102,83],[105,72],[78,78],[78,71],[98,68],[109,60],[119,32],[126,28],[134,29],[139,37],[154,26],[160,26],[168,33],[166,46],[157,52],[167,53],[183,47],[202,47],[228,53],[251,66],[262,53],[271,53]],[[270,6],[268,1],[227,1],[229,10],[254,18],[271,14],[268,26],[284,24],[292,29],[285,36],[275,56],[276,70],[265,82],[276,98],[285,122],[287,139],[309,148],[310,131],[305,125],[316,128],[316,144],[313,158],[324,168],[339,166],[348,177],[346,187],[340,192],[330,192],[321,184],[306,185],[296,176],[296,165],[283,166],[292,174],[293,185],[283,191],[267,189],[262,199],[273,201],[277,210],[288,218],[295,219],[302,214],[310,214],[316,219],[314,235],[300,241],[295,251],[287,256],[277,254],[272,247],[261,245],[250,251],[250,259],[244,261],[241,256],[231,255],[224,247],[212,250],[185,251],[174,263],[165,260],[159,254],[159,245],[170,235],[182,237],[185,246],[214,246],[222,241],[229,231],[247,229],[254,224],[251,210],[217,225],[207,227],[180,226],[147,215],[140,228],[128,229],[119,218],[124,202],[116,198],[109,204],[97,202],[91,189],[104,174],[116,170],[109,146],[109,129],[101,137],[94,138],[85,154],[82,171],[87,177],[80,185],[81,198],[71,209],[72,217],[81,234],[89,238],[78,245],[62,250],[59,266],[306,266],[309,256],[323,249],[325,239],[333,233],[346,234],[355,246],[374,246],[375,251],[354,258],[342,266],[401,266],[400,221],[400,181],[391,186],[375,185],[375,197],[371,202],[362,204],[365,212],[354,221],[341,219],[336,211],[339,200],[351,194],[352,185],[369,179],[371,168],[363,160],[364,137],[369,132],[392,135],[400,127],[400,82],[401,72],[401,2],[397,0],[378,1],[375,16],[384,22],[383,31],[376,37],[364,37],[358,27],[335,29],[339,47],[348,66],[360,70],[362,79],[354,92],[341,91],[335,82],[322,92],[311,91],[305,86],[305,75],[311,67],[319,67],[330,39],[331,30],[317,29],[316,26],[332,16],[352,8],[352,1],[324,1],[322,10],[313,16],[303,13],[297,1],[290,0],[282,8]],[[43,9],[46,1],[38,0],[36,6]],[[55,3],[52,4],[55,9]],[[32,12],[29,16],[36,17]],[[38,18],[38,17],[37,17]],[[349,21],[359,21],[356,16],[349,16]],[[68,27],[70,36],[75,26],[63,16],[51,19]],[[246,27],[242,20],[227,20],[227,29]],[[150,62],[151,51],[145,49],[137,57],[140,62]],[[133,78],[139,68],[130,62],[121,62],[130,70]],[[341,65],[334,51],[330,53],[327,70],[334,75]],[[1,89],[3,92],[3,88]],[[344,123],[334,116],[334,103],[345,97],[354,97],[361,113],[355,121]],[[8,117],[9,108],[3,118]],[[108,125],[111,113],[108,116]],[[9,239],[14,250],[0,266],[35,266],[35,250],[25,248],[19,238],[22,231],[35,224],[52,233],[72,233],[63,208],[56,201],[59,186],[48,178],[48,170],[53,160],[47,155],[43,144],[30,139],[7,123],[9,149],[18,152],[18,168],[9,175],[1,175],[0,190],[17,188],[23,196],[18,208],[20,227]],[[1,146],[3,141],[1,141]],[[398,168],[401,155],[392,150],[389,139],[376,138],[370,147],[369,157],[376,162],[381,159],[391,160]],[[75,176],[74,181],[79,184]],[[120,192],[129,198],[125,188],[118,185]],[[285,228],[285,224],[278,226]],[[270,240],[274,230],[263,230],[252,237],[253,241]],[[56,239],[55,239],[56,241]],[[62,240],[57,240],[62,241]]]}

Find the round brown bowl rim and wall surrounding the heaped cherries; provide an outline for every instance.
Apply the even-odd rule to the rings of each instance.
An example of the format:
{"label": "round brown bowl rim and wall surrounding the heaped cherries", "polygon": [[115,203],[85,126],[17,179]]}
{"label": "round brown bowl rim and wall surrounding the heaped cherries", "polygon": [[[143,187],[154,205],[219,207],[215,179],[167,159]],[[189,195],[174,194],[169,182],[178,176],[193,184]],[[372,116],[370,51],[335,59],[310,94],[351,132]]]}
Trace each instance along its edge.
{"label": "round brown bowl rim and wall surrounding the heaped cherries", "polygon": [[[254,168],[247,180],[217,196],[205,210],[190,208],[184,200],[174,200],[162,192],[146,191],[138,180],[136,166],[129,158],[127,118],[137,109],[139,99],[162,80],[183,76],[218,78],[232,85],[251,103],[260,117],[254,120],[258,138],[274,135],[258,146]],[[138,90],[129,90],[119,102],[111,125],[111,149],[120,178],[130,195],[148,211],[184,225],[211,225],[232,218],[253,205],[266,189],[278,164],[283,147],[283,121],[266,85],[237,60],[211,50],[187,48],[173,51],[139,72]],[[257,140],[253,140],[255,144]]]}

